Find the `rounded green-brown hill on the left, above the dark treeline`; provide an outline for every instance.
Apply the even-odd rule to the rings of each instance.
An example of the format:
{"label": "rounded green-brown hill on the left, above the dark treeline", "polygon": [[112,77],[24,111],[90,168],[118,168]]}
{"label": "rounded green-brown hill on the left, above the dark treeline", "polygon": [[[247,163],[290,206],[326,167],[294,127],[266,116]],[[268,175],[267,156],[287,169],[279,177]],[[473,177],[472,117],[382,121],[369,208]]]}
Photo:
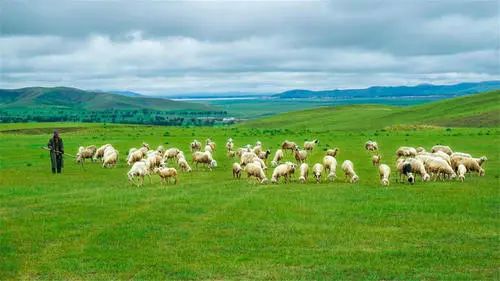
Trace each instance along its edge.
{"label": "rounded green-brown hill on the left, above the dark treeline", "polygon": [[88,111],[116,110],[160,110],[181,111],[210,110],[200,103],[173,101],[164,98],[144,97],[133,92],[84,91],[69,87],[29,87],[21,89],[0,89],[2,108],[58,108]]}

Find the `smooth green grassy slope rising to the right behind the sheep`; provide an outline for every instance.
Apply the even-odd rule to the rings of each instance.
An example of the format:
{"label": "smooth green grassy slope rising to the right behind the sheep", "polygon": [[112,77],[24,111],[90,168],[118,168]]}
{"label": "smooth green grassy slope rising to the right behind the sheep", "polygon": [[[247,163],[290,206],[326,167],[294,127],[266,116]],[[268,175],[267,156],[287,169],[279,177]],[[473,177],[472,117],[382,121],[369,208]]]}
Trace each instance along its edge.
{"label": "smooth green grassy slope rising to the right behind the sheep", "polygon": [[500,91],[458,97],[424,105],[393,107],[348,105],[288,112],[242,124],[247,128],[376,130],[391,125],[497,127]]}

